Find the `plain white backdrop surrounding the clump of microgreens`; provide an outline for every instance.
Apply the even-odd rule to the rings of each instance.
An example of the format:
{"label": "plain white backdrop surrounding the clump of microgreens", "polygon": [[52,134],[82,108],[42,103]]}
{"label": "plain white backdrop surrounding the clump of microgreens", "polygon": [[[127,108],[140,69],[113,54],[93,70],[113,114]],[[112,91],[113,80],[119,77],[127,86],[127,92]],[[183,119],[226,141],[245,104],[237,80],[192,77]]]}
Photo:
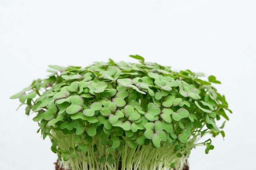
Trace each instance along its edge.
{"label": "plain white backdrop surrounding the clump of microgreens", "polygon": [[[225,141],[192,150],[191,170],[251,170],[256,160],[255,0],[0,0],[0,169],[54,170],[50,140],[9,97],[49,64],[146,61],[213,74],[233,114]],[[136,62],[136,61],[135,61]]]}

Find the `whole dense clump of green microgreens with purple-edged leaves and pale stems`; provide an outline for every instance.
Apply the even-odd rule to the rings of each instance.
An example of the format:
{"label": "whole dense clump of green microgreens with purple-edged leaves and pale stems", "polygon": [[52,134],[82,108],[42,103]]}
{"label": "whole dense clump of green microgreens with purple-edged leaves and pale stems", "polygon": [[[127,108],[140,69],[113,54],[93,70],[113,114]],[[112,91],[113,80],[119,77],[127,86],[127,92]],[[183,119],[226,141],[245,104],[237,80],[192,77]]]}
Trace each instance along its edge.
{"label": "whole dense clump of green microgreens with purple-edged leaves and pale stems", "polygon": [[[96,62],[86,68],[50,65],[46,79],[11,98],[36,113],[43,139],[49,136],[59,164],[72,170],[181,170],[196,146],[214,149],[210,133],[225,136],[225,97],[214,76],[175,72],[168,66]],[[56,71],[55,71],[56,70]],[[231,113],[231,111],[230,111]]]}

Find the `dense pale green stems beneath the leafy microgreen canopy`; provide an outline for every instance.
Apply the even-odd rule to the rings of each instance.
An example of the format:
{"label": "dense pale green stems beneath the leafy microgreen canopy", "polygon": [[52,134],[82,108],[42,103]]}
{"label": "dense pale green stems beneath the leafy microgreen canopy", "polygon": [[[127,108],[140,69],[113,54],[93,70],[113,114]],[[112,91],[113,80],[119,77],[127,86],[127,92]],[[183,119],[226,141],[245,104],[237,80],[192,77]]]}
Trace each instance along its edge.
{"label": "dense pale green stems beneath the leafy microgreen canopy", "polygon": [[[69,150],[70,147],[76,148],[78,144],[75,141],[75,135],[64,135],[61,131],[52,129],[51,139],[56,140],[58,149]],[[188,140],[186,150],[180,151],[183,155],[193,147],[203,145],[197,143],[198,136],[193,136]],[[127,140],[127,139],[124,139]],[[182,170],[188,154],[178,158],[175,150],[176,143],[162,143],[160,148],[154,148],[152,145],[140,145],[136,149],[129,147],[128,143],[122,143],[122,150],[106,152],[109,146],[104,146],[99,139],[99,135],[93,137],[92,143],[82,140],[81,143],[88,145],[86,152],[75,150],[76,158],[70,157],[68,161],[59,161],[59,165],[67,170],[118,170],[121,164],[121,170],[170,170],[170,164],[175,162],[176,170]],[[94,145],[98,148],[94,151]],[[62,154],[62,152],[60,152]],[[115,159],[114,164],[108,162],[108,155],[112,154]],[[62,155],[63,156],[63,155]],[[100,163],[98,158],[105,156],[106,161]]]}

